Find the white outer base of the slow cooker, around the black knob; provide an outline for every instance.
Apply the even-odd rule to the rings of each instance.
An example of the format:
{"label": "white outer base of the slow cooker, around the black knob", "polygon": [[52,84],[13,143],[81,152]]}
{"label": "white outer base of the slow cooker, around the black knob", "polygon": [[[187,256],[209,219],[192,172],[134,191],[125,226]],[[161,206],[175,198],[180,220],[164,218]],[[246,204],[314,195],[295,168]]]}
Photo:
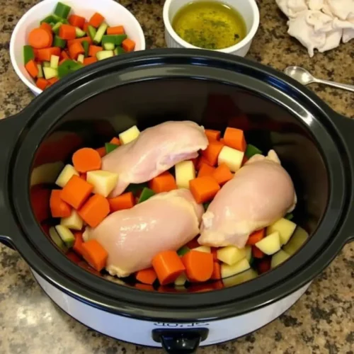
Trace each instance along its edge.
{"label": "white outer base of the slow cooker, around the black knob", "polygon": [[203,327],[209,329],[209,335],[200,346],[210,346],[211,344],[231,341],[256,331],[265,324],[276,319],[280,314],[289,309],[299,297],[304,294],[311,282],[301,287],[291,295],[283,299],[241,316],[232,317],[230,319],[221,319],[217,321],[198,322],[192,324],[176,324],[176,323],[159,323],[153,321],[142,321],[132,319],[117,314],[111,314],[101,309],[96,309],[89,304],[80,302],[70,297],[64,292],[58,290],[55,286],[44,280],[38,273],[33,275],[38,281],[46,294],[70,316],[86,326],[101,332],[106,336],[116,338],[121,341],[135,343],[141,346],[152,346],[161,348],[161,344],[156,343],[152,339],[152,331],[154,329],[192,329]]}

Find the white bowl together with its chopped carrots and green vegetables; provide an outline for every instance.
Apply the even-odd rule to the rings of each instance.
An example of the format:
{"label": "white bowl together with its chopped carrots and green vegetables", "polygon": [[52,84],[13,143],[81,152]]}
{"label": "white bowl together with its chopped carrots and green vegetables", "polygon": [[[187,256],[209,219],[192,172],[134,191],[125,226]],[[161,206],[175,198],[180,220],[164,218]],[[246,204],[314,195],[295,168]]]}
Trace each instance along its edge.
{"label": "white bowl together with its chopped carrots and green vegetables", "polygon": [[13,69],[35,94],[98,60],[145,49],[135,16],[113,0],[44,0],[18,21]]}

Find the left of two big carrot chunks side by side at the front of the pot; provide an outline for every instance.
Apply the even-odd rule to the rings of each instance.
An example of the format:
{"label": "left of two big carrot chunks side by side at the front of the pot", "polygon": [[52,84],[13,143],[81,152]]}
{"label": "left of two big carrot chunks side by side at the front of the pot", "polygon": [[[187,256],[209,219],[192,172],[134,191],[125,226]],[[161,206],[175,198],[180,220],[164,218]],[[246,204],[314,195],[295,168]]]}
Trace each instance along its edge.
{"label": "left of two big carrot chunks side by side at the front of the pot", "polygon": [[[202,252],[198,252],[202,253]],[[152,258],[152,266],[161,285],[174,282],[185,270],[176,251],[162,251]]]}

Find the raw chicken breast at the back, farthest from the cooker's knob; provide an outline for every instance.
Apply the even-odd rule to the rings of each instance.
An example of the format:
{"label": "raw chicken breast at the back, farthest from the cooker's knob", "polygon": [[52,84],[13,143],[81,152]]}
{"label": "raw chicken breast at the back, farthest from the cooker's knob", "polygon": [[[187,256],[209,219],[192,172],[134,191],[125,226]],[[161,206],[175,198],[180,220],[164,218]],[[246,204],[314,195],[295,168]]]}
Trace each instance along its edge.
{"label": "raw chicken breast at the back, farthest from the cooker's knob", "polygon": [[120,195],[130,183],[147,182],[178,162],[197,157],[207,144],[204,128],[187,120],[144,130],[134,141],[103,157],[102,169],[119,176],[110,197]]}

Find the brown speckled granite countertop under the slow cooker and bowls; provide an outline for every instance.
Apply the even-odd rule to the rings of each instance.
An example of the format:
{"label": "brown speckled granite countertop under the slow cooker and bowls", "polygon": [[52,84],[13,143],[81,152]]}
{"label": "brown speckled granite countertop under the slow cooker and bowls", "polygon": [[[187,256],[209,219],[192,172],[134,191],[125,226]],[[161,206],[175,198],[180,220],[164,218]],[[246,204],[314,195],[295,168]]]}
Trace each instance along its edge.
{"label": "brown speckled granite countertop under the slow cooker and bowls", "polygon": [[[17,113],[33,99],[13,72],[8,45],[13,26],[36,2],[0,0],[0,118]],[[142,23],[147,47],[164,47],[164,0],[120,2]],[[319,78],[354,83],[353,41],[325,54],[316,53],[310,59],[304,48],[287,35],[286,19],[275,0],[258,0],[258,5],[261,26],[250,58],[280,70],[297,64]],[[334,110],[354,118],[353,93],[325,86],[311,88]],[[354,244],[349,244],[280,319],[249,336],[200,349],[198,353],[353,354],[353,279]],[[1,245],[0,281],[0,353],[160,353],[120,343],[77,323],[42,292],[21,256]]]}

